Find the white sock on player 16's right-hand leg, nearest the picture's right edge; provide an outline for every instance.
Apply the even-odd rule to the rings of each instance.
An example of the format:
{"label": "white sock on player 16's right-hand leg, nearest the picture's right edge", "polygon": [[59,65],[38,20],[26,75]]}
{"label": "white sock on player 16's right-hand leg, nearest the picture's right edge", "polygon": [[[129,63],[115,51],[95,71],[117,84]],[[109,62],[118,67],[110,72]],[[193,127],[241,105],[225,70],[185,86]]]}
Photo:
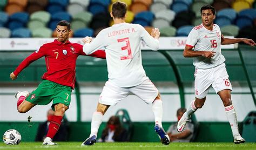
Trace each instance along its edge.
{"label": "white sock on player 16's right-hand leg, nearest the picture's right edge", "polygon": [[225,107],[225,111],[227,114],[227,119],[230,122],[233,137],[235,137],[236,135],[240,135],[238,131],[238,124],[237,124],[237,114],[235,113],[233,104]]}

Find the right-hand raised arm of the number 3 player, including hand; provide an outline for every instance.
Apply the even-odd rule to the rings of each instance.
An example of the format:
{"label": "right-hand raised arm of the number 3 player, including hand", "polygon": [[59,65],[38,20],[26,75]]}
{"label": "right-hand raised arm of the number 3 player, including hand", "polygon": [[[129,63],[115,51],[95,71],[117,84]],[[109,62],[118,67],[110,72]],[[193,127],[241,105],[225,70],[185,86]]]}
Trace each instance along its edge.
{"label": "right-hand raised arm of the number 3 player, including hand", "polygon": [[159,49],[159,36],[160,32],[158,28],[154,28],[151,32],[151,35],[141,26],[139,26],[139,30],[141,32],[142,40],[145,42],[147,46],[150,47],[153,51],[157,51]]}

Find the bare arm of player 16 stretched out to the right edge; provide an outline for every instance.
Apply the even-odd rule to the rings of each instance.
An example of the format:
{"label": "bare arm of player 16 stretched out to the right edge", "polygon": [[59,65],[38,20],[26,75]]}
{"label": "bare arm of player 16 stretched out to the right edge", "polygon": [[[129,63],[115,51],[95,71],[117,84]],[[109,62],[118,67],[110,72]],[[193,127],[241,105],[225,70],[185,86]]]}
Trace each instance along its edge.
{"label": "bare arm of player 16 stretched out to the right edge", "polygon": [[252,39],[248,38],[224,38],[223,35],[221,35],[221,44],[234,44],[234,43],[240,43],[244,42],[245,44],[248,44],[250,46],[255,46],[255,42]]}

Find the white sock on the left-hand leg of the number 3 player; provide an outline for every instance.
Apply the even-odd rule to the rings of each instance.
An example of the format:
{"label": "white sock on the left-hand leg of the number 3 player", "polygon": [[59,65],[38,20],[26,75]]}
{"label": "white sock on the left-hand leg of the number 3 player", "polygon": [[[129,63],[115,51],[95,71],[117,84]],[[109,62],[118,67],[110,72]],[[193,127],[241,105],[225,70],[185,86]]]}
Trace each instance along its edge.
{"label": "white sock on the left-hand leg of the number 3 player", "polygon": [[95,135],[97,137],[99,126],[100,126],[100,124],[102,124],[102,118],[103,118],[103,114],[101,112],[93,113],[90,137],[92,137],[93,135]]}

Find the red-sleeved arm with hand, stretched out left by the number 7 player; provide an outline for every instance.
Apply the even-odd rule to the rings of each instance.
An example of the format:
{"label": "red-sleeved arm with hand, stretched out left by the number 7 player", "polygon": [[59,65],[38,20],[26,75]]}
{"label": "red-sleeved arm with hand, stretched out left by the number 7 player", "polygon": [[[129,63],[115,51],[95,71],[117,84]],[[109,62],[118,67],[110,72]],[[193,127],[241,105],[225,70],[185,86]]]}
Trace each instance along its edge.
{"label": "red-sleeved arm with hand, stretched out left by the number 7 player", "polygon": [[37,60],[37,59],[39,59],[39,58],[41,58],[43,56],[44,56],[44,50],[43,50],[43,46],[41,46],[38,51],[33,52],[32,54],[30,54],[30,56],[25,58],[22,61],[22,63],[18,65],[16,70],[10,74],[10,78],[12,80],[17,79],[18,74],[21,73],[21,71],[23,69],[25,69],[29,64],[31,64],[32,62],[34,62],[35,60]]}

